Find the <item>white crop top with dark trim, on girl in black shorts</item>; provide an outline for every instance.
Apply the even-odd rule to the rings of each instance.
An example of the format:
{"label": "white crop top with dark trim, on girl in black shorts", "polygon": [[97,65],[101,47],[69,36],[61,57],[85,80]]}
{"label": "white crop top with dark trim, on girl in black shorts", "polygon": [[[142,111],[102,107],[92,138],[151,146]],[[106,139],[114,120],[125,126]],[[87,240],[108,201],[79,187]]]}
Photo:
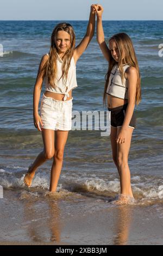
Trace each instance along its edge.
{"label": "white crop top with dark trim, on girl in black shorts", "polygon": [[[128,67],[129,65],[124,65],[123,71],[125,72]],[[111,70],[106,93],[118,97],[120,99],[128,99],[128,81],[124,77],[124,82],[122,82],[121,73],[118,68],[118,65],[115,65]]]}

